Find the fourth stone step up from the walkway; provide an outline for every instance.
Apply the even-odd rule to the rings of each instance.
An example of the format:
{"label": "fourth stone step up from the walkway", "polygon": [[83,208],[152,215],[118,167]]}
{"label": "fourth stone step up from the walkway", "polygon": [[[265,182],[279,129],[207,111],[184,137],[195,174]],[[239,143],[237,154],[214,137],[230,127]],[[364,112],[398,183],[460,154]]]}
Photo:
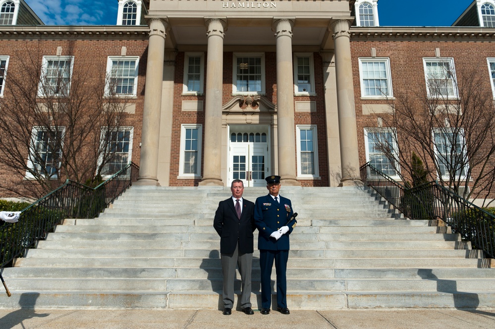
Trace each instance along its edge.
{"label": "fourth stone step up from the walkway", "polygon": [[[85,267],[85,268],[218,268],[220,259],[164,257],[94,257],[94,258],[20,258],[17,267]],[[495,263],[493,264],[495,267]],[[292,258],[287,268],[491,268],[490,259],[458,258]],[[253,269],[259,268],[257,259]]]}

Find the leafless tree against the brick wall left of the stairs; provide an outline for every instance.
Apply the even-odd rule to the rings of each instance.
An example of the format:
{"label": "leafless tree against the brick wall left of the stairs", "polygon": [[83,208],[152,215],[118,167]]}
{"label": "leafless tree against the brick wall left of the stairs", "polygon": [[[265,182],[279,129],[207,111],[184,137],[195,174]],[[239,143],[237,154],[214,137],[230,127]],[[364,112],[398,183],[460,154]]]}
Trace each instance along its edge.
{"label": "leafless tree against the brick wall left of the stairs", "polygon": [[115,158],[114,132],[131,125],[121,81],[106,63],[74,68],[71,47],[47,59],[41,42],[33,44],[30,56],[10,60],[20,67],[6,72],[0,98],[0,164],[19,178],[0,188],[23,197],[40,197],[65,179],[101,180]]}

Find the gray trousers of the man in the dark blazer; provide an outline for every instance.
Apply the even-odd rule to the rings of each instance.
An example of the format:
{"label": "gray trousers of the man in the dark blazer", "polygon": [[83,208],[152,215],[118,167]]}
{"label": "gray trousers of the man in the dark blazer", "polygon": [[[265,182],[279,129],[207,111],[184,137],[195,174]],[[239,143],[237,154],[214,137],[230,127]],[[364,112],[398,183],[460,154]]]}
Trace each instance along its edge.
{"label": "gray trousers of the man in the dark blazer", "polygon": [[251,307],[251,266],[253,254],[239,254],[239,246],[232,254],[220,254],[223,273],[223,305],[234,308],[234,278],[235,267],[241,274],[241,308]]}

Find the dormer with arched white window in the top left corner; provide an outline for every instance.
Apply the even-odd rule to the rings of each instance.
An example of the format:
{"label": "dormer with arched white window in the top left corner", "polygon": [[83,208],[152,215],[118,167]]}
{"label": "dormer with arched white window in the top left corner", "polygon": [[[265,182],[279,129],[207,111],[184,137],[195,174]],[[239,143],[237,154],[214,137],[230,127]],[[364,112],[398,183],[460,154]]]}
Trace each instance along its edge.
{"label": "dormer with arched white window in the top left corner", "polygon": [[0,25],[45,25],[24,0],[0,0]]}

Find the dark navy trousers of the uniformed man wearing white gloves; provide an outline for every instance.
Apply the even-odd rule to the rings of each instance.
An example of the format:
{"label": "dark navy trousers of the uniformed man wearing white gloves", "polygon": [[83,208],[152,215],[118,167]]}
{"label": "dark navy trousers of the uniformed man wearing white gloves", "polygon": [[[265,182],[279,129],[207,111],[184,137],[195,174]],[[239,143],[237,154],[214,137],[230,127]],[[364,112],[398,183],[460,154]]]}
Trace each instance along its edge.
{"label": "dark navy trousers of the uniformed man wearing white gloves", "polygon": [[272,304],[272,268],[275,260],[276,273],[276,304],[277,307],[287,307],[287,260],[288,250],[260,250],[261,268],[261,307],[270,309]]}

